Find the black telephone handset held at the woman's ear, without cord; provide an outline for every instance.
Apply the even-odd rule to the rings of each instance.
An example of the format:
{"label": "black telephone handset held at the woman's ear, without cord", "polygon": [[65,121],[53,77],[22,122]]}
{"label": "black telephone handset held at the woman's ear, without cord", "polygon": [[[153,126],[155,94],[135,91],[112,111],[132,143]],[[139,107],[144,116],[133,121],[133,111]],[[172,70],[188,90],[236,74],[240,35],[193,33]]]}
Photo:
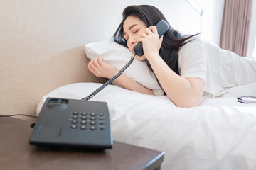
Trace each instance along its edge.
{"label": "black telephone handset held at the woman's ear, without cord", "polygon": [[[161,35],[163,35],[166,30],[169,29],[169,25],[168,23],[166,23],[166,21],[161,20],[159,21],[159,23],[156,24],[156,28],[157,28],[157,33],[159,35],[159,38],[161,38]],[[139,42],[135,47],[134,47],[134,53],[141,57],[144,52],[143,52],[143,48],[142,48],[142,42]]]}

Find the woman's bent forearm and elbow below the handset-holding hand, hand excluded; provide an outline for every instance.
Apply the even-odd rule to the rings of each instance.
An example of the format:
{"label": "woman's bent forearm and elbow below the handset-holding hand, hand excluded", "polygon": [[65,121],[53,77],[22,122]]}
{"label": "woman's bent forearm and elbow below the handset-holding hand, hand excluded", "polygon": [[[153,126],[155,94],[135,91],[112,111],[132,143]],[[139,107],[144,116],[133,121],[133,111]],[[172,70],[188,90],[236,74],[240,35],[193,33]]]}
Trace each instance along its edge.
{"label": "woman's bent forearm and elbow below the handset-holding hand, hand excluded", "polygon": [[204,81],[198,77],[183,78],[172,71],[160,56],[148,58],[167,96],[178,107],[198,106],[203,96]]}

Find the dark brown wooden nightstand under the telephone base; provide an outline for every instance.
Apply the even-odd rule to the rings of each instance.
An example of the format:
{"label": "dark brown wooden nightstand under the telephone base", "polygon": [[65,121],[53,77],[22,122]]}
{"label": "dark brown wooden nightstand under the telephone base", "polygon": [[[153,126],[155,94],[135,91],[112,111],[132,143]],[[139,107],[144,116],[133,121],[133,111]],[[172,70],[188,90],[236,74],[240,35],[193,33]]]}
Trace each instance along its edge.
{"label": "dark brown wooden nightstand under the telephone base", "polygon": [[29,145],[31,122],[0,118],[0,169],[159,170],[164,152],[115,142],[112,149],[86,151]]}

